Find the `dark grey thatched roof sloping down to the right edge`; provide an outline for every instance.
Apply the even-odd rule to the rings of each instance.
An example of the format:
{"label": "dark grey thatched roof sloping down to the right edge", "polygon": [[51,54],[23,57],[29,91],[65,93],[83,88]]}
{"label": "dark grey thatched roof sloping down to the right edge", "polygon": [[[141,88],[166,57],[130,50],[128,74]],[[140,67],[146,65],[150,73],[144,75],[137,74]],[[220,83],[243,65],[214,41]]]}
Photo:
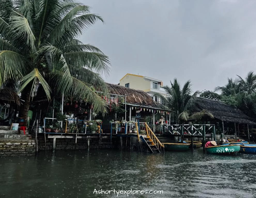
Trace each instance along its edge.
{"label": "dark grey thatched roof sloping down to the right edge", "polygon": [[196,111],[208,110],[214,118],[222,121],[256,125],[255,122],[251,121],[252,118],[246,116],[241,110],[221,101],[198,97],[196,108]]}

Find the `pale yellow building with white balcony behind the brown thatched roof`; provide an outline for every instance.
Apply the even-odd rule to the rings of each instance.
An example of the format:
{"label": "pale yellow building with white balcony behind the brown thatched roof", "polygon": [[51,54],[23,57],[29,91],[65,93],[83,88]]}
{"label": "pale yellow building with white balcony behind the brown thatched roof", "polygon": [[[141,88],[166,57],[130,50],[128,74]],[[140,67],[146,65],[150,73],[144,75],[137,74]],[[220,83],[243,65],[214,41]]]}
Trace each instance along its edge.
{"label": "pale yellow building with white balcony behind the brown thatched roof", "polygon": [[123,78],[120,79],[120,86],[142,90],[148,93],[156,102],[159,102],[159,98],[153,96],[155,93],[165,95],[165,91],[161,88],[163,86],[163,82],[147,76],[127,73]]}

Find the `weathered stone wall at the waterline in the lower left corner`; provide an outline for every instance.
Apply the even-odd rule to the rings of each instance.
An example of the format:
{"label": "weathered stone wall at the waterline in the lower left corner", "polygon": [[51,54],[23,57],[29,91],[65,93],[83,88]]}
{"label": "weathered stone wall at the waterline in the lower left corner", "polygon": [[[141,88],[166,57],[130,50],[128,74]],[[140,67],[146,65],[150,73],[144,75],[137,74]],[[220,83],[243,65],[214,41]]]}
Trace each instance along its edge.
{"label": "weathered stone wall at the waterline in the lower left corner", "polygon": [[33,155],[36,153],[35,140],[0,140],[0,156]]}

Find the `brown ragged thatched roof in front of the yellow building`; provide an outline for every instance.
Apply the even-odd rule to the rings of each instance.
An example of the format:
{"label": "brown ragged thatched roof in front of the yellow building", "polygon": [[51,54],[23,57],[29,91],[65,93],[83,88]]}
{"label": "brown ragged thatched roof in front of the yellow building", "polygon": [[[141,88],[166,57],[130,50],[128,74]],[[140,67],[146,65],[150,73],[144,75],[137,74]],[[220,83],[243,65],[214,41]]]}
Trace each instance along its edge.
{"label": "brown ragged thatched roof in front of the yellow building", "polygon": [[107,83],[110,94],[126,95],[126,104],[130,106],[141,106],[142,108],[170,111],[166,106],[152,100],[151,96],[141,90],[126,88],[120,85]]}

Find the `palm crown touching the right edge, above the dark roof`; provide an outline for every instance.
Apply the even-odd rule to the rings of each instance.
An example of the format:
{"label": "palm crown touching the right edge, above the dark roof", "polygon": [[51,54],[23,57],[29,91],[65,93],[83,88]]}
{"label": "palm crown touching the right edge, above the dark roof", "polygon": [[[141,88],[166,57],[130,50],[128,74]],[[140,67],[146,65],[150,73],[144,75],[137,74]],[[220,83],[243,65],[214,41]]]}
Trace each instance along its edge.
{"label": "palm crown touching the right edge, above the dark roof", "polygon": [[[238,76],[238,75],[237,75]],[[256,89],[256,74],[253,71],[249,71],[245,79],[238,76],[238,82],[243,92],[252,94]]]}

